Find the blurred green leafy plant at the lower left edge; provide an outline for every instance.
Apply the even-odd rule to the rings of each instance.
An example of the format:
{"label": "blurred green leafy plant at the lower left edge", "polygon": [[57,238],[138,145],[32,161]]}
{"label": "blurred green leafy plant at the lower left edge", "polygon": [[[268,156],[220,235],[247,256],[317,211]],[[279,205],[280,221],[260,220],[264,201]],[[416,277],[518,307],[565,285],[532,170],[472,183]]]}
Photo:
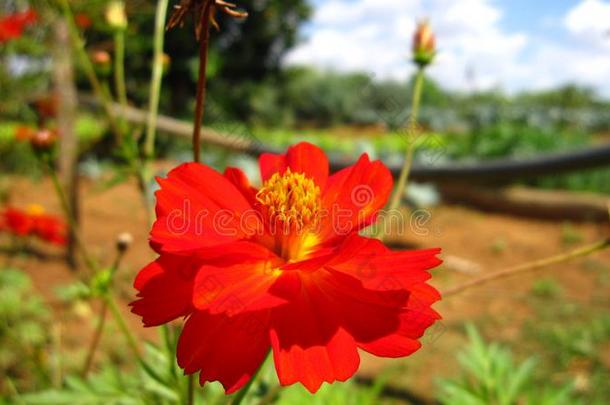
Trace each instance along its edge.
{"label": "blurred green leafy plant at the lower left edge", "polygon": [[44,351],[50,341],[49,312],[23,272],[0,268],[0,395],[32,389],[47,378]]}

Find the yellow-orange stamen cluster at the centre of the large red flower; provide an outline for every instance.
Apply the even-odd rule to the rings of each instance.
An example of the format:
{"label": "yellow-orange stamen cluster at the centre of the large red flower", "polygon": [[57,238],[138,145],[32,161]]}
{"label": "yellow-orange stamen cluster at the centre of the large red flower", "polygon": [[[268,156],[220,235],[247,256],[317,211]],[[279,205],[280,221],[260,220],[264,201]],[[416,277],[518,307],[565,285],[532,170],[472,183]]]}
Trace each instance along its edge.
{"label": "yellow-orange stamen cluster at the centre of the large red flower", "polygon": [[275,173],[256,195],[275,231],[302,232],[315,226],[320,213],[320,187],[303,173]]}

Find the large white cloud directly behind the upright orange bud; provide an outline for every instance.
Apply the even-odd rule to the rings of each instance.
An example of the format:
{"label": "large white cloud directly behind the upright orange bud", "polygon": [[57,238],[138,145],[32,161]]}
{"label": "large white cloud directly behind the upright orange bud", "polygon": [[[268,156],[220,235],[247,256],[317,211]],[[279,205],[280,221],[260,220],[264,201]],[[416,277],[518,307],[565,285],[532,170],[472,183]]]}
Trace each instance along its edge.
{"label": "large white cloud directly behind the upright orange bud", "polygon": [[[287,63],[405,78],[413,69],[408,60],[416,20],[425,17],[439,43],[431,74],[453,88],[501,83],[527,43],[524,33],[498,28],[502,13],[488,0],[330,0],[316,9],[312,35]],[[465,79],[473,70],[475,83]]]}

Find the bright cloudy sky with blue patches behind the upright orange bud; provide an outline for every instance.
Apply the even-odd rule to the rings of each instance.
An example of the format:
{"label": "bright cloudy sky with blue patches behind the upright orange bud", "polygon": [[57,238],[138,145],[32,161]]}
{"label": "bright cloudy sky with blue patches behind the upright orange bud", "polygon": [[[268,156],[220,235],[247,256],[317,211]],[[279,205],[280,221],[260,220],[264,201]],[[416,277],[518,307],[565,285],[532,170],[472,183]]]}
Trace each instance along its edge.
{"label": "bright cloudy sky with blue patches behind the upright orange bud", "polygon": [[543,89],[568,82],[610,95],[610,0],[312,0],[288,64],[405,78],[415,22],[429,18],[430,74],[460,90]]}

